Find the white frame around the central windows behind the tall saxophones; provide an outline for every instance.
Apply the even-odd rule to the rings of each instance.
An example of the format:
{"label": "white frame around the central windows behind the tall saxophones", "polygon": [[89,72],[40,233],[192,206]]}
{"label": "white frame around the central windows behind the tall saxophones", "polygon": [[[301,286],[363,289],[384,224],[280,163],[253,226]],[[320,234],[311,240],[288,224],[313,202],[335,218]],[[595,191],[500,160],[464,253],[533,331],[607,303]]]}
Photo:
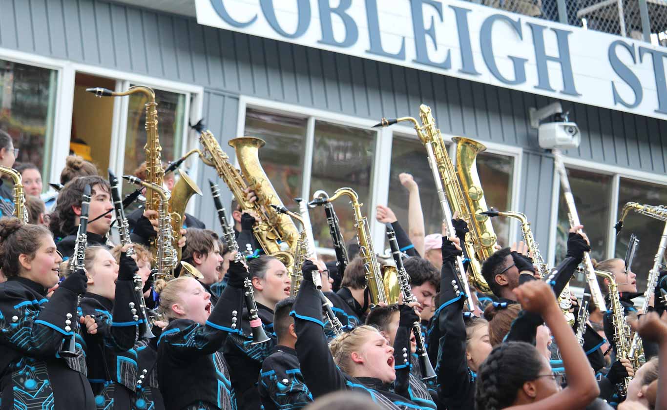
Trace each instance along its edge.
{"label": "white frame around the central windows behind the tall saxophones", "polygon": [[[354,117],[352,115],[334,113],[321,109],[310,107],[303,107],[302,105],[295,105],[290,103],[283,103],[281,101],[271,101],[263,98],[252,97],[249,95],[239,96],[239,110],[237,116],[236,135],[244,135],[245,133],[245,113],[247,108],[266,111],[269,113],[276,113],[280,115],[287,115],[291,117],[307,119],[306,137],[305,137],[305,153],[304,153],[304,167],[303,167],[303,181],[301,184],[301,195],[309,193],[310,191],[310,175],[313,160],[313,146],[314,146],[314,130],[315,121],[327,121],[339,125],[347,125],[350,127],[358,127],[364,129],[372,129],[380,119],[373,120],[364,117]],[[389,185],[390,185],[390,169],[392,160],[392,143],[394,141],[394,134],[402,138],[410,138],[418,141],[417,132],[412,127],[404,125],[394,125],[392,127],[384,127],[373,129],[377,132],[375,141],[375,159],[373,161],[373,171],[370,186],[370,199],[366,205],[366,217],[371,232],[373,243],[384,245],[385,227],[382,223],[376,221],[373,210],[378,204],[385,204],[389,199]],[[442,137],[446,142],[452,142],[452,137],[443,133]],[[521,173],[523,167],[524,150],[522,147],[513,145],[504,145],[494,143],[492,141],[480,141],[486,145],[486,151],[497,155],[505,155],[512,157],[514,166],[512,169],[512,193],[510,193],[512,209],[516,209],[519,205],[520,187],[521,187]],[[453,157],[454,145],[450,149],[450,157]],[[426,152],[424,153],[424,161],[426,161]],[[234,165],[238,167],[238,161],[234,158]],[[510,220],[510,241],[516,241],[518,237],[518,224],[514,219]],[[376,245],[378,246],[378,245]],[[316,249],[317,253],[323,255],[335,255],[333,249],[320,248]],[[383,249],[376,249],[376,251],[383,251]]]}

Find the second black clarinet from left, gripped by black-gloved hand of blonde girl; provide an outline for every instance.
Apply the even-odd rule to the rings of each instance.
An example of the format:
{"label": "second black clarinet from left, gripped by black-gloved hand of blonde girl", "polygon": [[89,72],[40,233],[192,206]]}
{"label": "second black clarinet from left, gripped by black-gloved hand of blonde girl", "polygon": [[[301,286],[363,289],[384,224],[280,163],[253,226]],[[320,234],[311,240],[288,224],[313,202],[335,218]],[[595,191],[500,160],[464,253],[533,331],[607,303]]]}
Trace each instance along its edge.
{"label": "second black clarinet from left, gripped by black-gloved hand of blonde girl", "polygon": [[[111,199],[113,199],[113,209],[116,213],[116,220],[118,221],[118,233],[121,237],[121,245],[129,245],[132,241],[129,239],[129,225],[127,223],[127,218],[125,217],[125,209],[123,209],[118,178],[113,175],[111,169],[109,169],[109,184],[111,185]],[[127,251],[125,251],[125,255],[134,255],[134,249],[132,247],[128,248]],[[139,273],[135,273],[132,280],[134,282],[136,298],[137,301],[139,301],[139,314],[141,315],[141,320],[139,321],[139,315],[135,313],[135,317],[137,318],[135,320],[139,321],[139,340],[153,339],[155,335],[151,332],[148,317],[146,316],[146,301],[143,299],[143,283],[141,283]],[[134,308],[132,309],[133,311],[135,310]]]}

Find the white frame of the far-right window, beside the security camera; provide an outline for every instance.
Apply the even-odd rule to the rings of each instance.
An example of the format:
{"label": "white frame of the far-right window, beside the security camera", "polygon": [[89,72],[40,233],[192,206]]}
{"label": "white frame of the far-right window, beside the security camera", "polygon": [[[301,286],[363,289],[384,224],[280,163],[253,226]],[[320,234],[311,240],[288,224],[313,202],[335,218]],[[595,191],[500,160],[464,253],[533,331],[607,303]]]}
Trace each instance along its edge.
{"label": "white frame of the far-right window, beside the security camera", "polygon": [[[600,168],[600,163],[589,161],[587,159],[572,158],[563,156],[563,164],[566,168],[580,169],[582,171],[596,173],[599,175],[609,175],[612,177],[610,212],[607,229],[607,247],[605,249],[605,259],[614,257],[616,252],[616,231],[614,225],[618,217],[618,196],[620,189],[620,179],[633,179],[635,181],[654,183],[663,185],[667,188],[667,175],[659,175],[648,171],[640,171],[632,168],[619,167],[618,165],[604,164],[604,169]],[[554,180],[552,184],[552,202],[550,211],[550,231],[549,231],[549,247],[548,247],[548,263],[554,266],[556,259],[556,225],[558,223],[558,204],[560,201],[560,177],[556,171],[554,163]],[[586,221],[582,221],[586,223]],[[582,295],[584,289],[582,287],[572,287],[577,295]]]}

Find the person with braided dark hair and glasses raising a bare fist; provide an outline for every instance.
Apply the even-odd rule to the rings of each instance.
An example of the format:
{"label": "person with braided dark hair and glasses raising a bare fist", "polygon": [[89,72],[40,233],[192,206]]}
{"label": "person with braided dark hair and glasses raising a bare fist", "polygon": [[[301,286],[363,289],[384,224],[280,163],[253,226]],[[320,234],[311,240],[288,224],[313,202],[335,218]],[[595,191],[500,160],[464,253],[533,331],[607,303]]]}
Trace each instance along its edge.
{"label": "person with braided dark hair and glasses raising a bare fist", "polygon": [[530,343],[501,343],[477,374],[476,408],[584,409],[598,397],[600,389],[586,353],[556,303],[554,291],[547,283],[529,281],[513,293],[526,311],[540,315],[552,329],[568,385],[564,389],[560,386],[548,359]]}

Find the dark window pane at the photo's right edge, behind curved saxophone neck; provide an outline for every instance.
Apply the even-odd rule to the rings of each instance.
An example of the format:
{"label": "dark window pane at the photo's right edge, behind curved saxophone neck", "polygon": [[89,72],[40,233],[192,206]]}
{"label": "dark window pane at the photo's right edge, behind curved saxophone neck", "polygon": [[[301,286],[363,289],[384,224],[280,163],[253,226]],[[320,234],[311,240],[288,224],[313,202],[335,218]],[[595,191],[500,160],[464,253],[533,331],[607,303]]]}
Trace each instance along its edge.
{"label": "dark window pane at the photo's right edge, behind curved saxophone neck", "polygon": [[[620,178],[618,186],[618,214],[628,202],[646,205],[667,204],[667,189],[664,185]],[[615,257],[624,258],[628,250],[630,234],[637,235],[640,245],[634,255],[632,271],[637,275],[637,291],[646,290],[648,271],[653,267],[653,259],[660,243],[664,222],[630,211],[624,219],[623,229],[616,237]]]}

